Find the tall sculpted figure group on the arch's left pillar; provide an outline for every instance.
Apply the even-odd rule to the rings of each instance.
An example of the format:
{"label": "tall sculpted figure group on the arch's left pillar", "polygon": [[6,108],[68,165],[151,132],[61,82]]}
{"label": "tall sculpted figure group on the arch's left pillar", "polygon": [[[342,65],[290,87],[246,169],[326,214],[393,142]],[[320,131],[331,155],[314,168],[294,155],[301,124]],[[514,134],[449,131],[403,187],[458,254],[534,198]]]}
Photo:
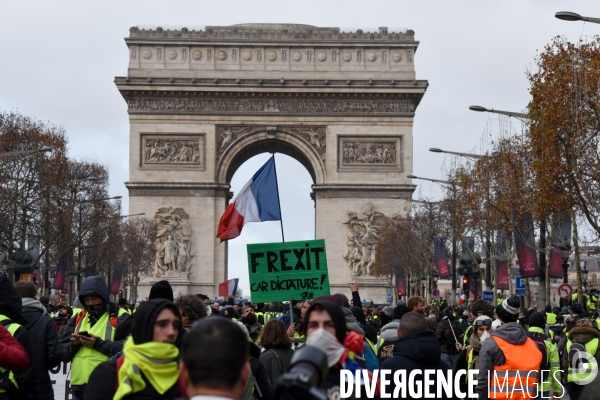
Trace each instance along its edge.
{"label": "tall sculpted figure group on the arch's left pillar", "polygon": [[189,274],[192,268],[192,227],[183,208],[162,207],[154,216],[157,223],[154,247],[156,256],[151,276],[165,273]]}

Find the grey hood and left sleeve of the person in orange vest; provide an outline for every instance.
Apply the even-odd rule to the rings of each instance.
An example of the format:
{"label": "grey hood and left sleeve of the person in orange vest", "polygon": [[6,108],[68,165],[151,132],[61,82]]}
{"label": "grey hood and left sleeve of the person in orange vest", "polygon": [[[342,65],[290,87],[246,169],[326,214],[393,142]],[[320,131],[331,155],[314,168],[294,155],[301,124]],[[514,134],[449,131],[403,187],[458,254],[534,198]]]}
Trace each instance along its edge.
{"label": "grey hood and left sleeve of the person in orange vest", "polygon": [[488,372],[494,369],[494,366],[504,365],[506,357],[492,336],[497,336],[510,344],[522,345],[527,341],[527,332],[518,322],[509,322],[500,325],[488,338],[479,350],[479,373],[477,374],[477,392],[480,399],[488,397]]}

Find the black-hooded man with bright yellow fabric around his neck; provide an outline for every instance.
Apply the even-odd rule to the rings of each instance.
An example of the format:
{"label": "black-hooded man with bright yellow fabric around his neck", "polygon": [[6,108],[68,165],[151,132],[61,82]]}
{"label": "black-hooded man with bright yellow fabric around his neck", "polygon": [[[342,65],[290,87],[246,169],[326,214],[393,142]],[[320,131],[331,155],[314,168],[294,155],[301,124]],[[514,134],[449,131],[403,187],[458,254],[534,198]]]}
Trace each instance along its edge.
{"label": "black-hooded man with bright yellow fabric around his neck", "polygon": [[100,364],[85,390],[86,400],[175,399],[182,396],[178,358],[181,315],[172,302],[153,299],[133,314],[123,356]]}

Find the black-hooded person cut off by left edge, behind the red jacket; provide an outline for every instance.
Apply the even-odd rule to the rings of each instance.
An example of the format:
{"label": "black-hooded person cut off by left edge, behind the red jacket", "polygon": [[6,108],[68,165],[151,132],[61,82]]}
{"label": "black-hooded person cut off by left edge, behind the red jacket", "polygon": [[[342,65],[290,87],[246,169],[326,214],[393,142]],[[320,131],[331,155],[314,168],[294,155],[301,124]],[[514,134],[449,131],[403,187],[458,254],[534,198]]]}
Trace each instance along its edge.
{"label": "black-hooded person cut off by left edge, behind the red jacket", "polygon": [[[5,275],[0,275],[0,324],[19,341],[27,351],[30,360],[33,354],[29,345],[29,334],[23,326],[21,316],[22,303],[19,294]],[[4,376],[8,379],[4,379]],[[37,399],[37,387],[33,364],[29,363],[24,371],[15,373],[0,368],[0,400],[33,400]]]}

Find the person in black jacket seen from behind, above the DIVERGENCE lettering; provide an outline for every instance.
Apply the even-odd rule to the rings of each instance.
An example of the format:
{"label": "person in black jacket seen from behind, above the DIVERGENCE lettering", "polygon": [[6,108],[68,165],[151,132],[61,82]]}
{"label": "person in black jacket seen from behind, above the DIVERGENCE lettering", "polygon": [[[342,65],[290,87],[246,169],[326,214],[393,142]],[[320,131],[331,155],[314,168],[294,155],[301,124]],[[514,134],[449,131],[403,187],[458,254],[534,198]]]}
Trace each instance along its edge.
{"label": "person in black jacket seen from behind, above the DIVERGENCE lettering", "polygon": [[[421,379],[424,393],[427,390],[429,393],[437,394],[437,379],[431,381],[426,379],[425,371],[436,370],[446,374],[451,368],[448,363],[442,361],[440,346],[435,333],[428,329],[425,316],[418,312],[404,314],[400,319],[398,336],[400,339],[394,346],[394,356],[385,360],[381,364],[381,369],[390,369],[392,376],[398,370],[406,370],[406,376],[409,376],[413,370],[421,370],[423,373],[415,376],[415,382]],[[433,385],[425,389],[425,383],[428,381]],[[387,390],[387,393],[391,392],[393,391]],[[452,396],[446,397],[445,391],[442,391],[442,397],[436,398],[447,399]]]}

